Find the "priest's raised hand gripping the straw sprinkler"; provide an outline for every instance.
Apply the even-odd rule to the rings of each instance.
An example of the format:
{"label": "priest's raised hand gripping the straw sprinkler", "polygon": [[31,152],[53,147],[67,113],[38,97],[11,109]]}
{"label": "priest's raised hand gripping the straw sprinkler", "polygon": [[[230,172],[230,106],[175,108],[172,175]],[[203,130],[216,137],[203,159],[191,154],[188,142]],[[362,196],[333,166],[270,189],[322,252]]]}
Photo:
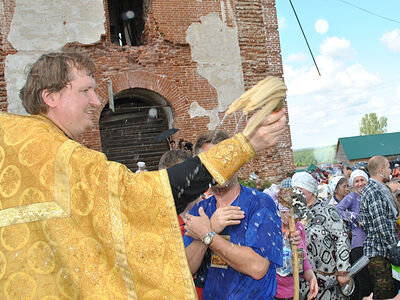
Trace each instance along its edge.
{"label": "priest's raised hand gripping the straw sprinkler", "polygon": [[[254,118],[254,116],[252,116]],[[251,119],[250,119],[251,120]],[[249,121],[250,122],[250,121]],[[286,124],[286,109],[269,114],[263,122],[246,138],[253,146],[255,152],[267,149],[275,145]]]}

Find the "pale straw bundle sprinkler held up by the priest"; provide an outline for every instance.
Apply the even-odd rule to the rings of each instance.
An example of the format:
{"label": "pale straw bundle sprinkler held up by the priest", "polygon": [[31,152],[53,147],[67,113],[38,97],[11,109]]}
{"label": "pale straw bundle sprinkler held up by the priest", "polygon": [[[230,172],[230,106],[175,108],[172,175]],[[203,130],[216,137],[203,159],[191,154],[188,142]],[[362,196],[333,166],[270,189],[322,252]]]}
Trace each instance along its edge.
{"label": "pale straw bundle sprinkler held up by the priest", "polygon": [[243,131],[243,134],[248,136],[273,110],[278,111],[282,108],[283,100],[286,97],[286,89],[286,85],[281,79],[268,76],[247,90],[240,98],[233,101],[225,115],[240,109],[245,115],[255,110],[260,110]]}

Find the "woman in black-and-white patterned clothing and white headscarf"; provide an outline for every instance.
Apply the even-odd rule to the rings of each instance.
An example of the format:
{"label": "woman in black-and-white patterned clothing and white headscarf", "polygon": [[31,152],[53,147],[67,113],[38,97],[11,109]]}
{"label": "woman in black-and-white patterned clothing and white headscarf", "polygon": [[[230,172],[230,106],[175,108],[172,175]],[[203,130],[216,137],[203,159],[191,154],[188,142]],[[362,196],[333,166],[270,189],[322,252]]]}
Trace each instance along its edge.
{"label": "woman in black-and-white patterned clothing and white headscarf", "polygon": [[[307,257],[320,288],[316,299],[347,299],[338,287],[326,289],[327,281],[337,280],[343,286],[350,280],[350,240],[346,226],[336,208],[318,197],[317,184],[309,173],[294,174],[292,184],[305,194],[312,213],[312,219],[305,229]],[[301,297],[306,298],[309,293],[308,283],[300,278]]]}

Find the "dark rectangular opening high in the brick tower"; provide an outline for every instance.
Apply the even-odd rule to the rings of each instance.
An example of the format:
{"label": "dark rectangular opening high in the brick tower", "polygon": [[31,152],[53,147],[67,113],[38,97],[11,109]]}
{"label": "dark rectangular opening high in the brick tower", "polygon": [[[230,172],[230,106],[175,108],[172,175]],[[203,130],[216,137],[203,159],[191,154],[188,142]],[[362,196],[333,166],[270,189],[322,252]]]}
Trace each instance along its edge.
{"label": "dark rectangular opening high in the brick tower", "polygon": [[107,0],[111,42],[120,46],[143,44],[143,0]]}

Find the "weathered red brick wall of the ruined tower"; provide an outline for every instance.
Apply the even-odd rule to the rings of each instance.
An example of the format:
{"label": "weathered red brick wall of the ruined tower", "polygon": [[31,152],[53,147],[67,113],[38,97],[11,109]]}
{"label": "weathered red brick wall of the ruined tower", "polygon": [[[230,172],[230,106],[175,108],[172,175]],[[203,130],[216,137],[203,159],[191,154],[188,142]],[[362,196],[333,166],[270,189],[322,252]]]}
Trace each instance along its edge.
{"label": "weathered red brick wall of the ruined tower", "polygon": [[[103,1],[107,16],[106,0],[91,1]],[[10,3],[15,6],[14,1]],[[65,42],[66,48],[83,49],[96,61],[95,79],[103,107],[108,101],[109,80],[115,94],[128,88],[152,90],[172,107],[173,126],[180,129],[175,140],[182,137],[194,143],[200,134],[218,126],[227,105],[243,91],[267,75],[282,77],[275,0],[144,3],[146,25],[141,46],[112,44],[107,17],[98,42]],[[8,24],[11,19],[12,14],[3,18]],[[12,46],[7,41],[3,44],[12,53]],[[2,50],[0,68],[4,54]],[[1,84],[4,80],[0,77]],[[0,108],[1,97],[3,89]],[[234,134],[239,118],[230,116],[218,128]],[[239,128],[243,125],[244,121]],[[101,150],[98,124],[81,137],[81,142]],[[257,171],[261,177],[276,181],[293,169],[288,126],[278,145],[243,168],[241,176]]]}

